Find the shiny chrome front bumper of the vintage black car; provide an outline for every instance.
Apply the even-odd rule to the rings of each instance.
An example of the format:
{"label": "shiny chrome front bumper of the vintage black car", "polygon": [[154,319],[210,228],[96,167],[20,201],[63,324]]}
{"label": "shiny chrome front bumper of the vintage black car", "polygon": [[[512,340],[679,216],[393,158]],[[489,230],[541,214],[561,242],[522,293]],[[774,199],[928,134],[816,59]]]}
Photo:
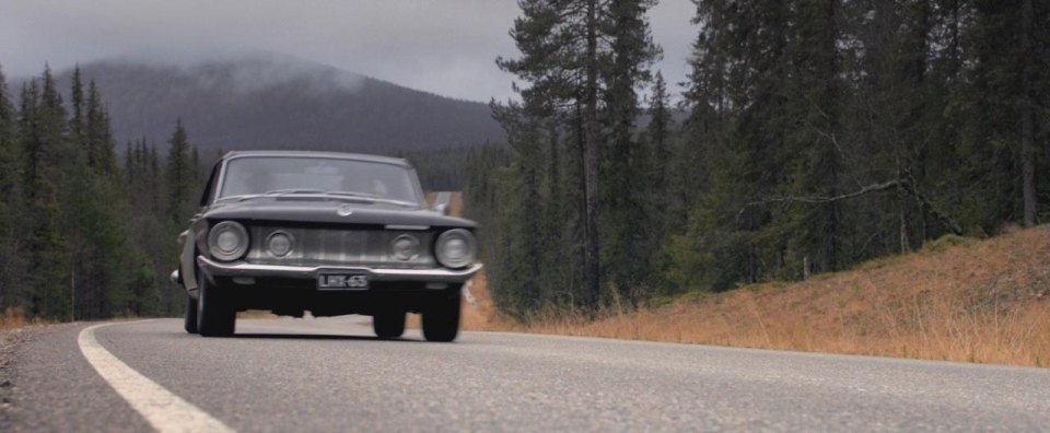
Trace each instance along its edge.
{"label": "shiny chrome front bumper of the vintage black car", "polygon": [[316,279],[320,272],[359,272],[369,276],[371,281],[413,281],[464,283],[481,270],[480,264],[466,269],[390,269],[364,268],[354,266],[278,266],[253,265],[246,261],[219,262],[205,256],[197,256],[197,265],[211,277],[254,277]]}

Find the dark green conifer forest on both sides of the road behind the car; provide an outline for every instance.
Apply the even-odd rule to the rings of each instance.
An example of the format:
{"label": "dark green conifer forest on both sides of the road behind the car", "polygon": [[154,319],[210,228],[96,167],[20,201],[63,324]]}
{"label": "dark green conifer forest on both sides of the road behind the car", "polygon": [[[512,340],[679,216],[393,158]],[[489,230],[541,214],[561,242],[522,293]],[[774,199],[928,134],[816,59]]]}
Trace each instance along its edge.
{"label": "dark green conifer forest on both sides of the road behind the car", "polygon": [[[517,51],[492,65],[515,81],[490,103],[508,142],[389,152],[464,191],[503,315],[803,280],[1050,221],[1050,2],[693,0],[685,83],[653,67],[655,3],[520,0]],[[221,153],[176,118],[165,142],[118,143],[80,73],[9,84],[0,311],[180,314],[175,239]]]}

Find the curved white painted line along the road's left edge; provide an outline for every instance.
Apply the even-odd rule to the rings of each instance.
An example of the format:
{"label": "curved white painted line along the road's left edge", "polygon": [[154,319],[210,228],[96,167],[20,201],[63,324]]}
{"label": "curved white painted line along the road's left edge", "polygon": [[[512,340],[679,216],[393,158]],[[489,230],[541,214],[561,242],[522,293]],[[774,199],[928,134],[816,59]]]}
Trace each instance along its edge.
{"label": "curved white painted line along the road's left edge", "polygon": [[120,362],[95,339],[95,329],[116,325],[102,324],[80,331],[77,343],[98,375],[117,390],[135,410],[159,432],[233,432],[200,408],[183,400]]}

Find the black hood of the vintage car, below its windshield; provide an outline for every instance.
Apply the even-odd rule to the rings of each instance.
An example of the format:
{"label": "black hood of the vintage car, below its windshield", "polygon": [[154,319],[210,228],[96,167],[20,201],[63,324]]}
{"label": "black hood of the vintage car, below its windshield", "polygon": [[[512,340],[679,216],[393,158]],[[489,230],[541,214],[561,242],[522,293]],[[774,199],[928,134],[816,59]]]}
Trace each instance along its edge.
{"label": "black hood of the vintage car, below its windshield", "polygon": [[425,209],[343,200],[260,198],[214,203],[202,215],[209,220],[277,221],[323,224],[427,225],[472,229],[477,223]]}

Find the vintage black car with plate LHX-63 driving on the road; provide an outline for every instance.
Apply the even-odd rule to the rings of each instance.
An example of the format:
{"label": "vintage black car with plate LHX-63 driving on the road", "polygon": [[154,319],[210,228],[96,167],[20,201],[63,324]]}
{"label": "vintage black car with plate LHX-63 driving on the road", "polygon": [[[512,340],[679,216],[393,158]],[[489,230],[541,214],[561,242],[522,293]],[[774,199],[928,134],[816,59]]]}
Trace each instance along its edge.
{"label": "vintage black car with plate LHX-63 driving on the road", "polygon": [[230,336],[236,314],[373,316],[397,338],[406,313],[430,341],[459,328],[477,224],[427,209],[399,159],[331,152],[230,152],[179,236],[172,280],[186,289],[186,331]]}

